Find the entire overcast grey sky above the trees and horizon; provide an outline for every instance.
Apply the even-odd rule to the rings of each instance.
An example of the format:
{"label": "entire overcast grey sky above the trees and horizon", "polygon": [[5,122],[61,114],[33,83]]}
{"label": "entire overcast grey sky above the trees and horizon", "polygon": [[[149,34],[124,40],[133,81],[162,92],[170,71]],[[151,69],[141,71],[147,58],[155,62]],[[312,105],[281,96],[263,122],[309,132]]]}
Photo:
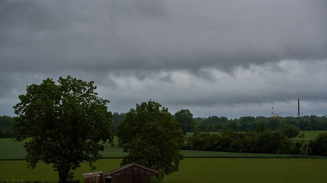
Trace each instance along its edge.
{"label": "entire overcast grey sky above the trees and horizon", "polygon": [[94,81],[111,112],[327,114],[323,0],[1,0],[0,115],[26,87]]}

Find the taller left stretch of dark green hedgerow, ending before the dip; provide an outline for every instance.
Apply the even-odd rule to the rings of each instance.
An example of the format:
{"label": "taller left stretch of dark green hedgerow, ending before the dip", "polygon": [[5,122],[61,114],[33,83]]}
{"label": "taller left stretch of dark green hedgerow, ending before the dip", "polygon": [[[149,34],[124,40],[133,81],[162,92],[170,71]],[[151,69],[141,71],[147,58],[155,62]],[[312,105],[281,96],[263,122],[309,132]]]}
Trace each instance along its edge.
{"label": "taller left stretch of dark green hedgerow, ending before the dip", "polygon": [[288,153],[291,142],[279,131],[238,133],[223,131],[219,135],[200,133],[185,140],[184,149],[227,152]]}

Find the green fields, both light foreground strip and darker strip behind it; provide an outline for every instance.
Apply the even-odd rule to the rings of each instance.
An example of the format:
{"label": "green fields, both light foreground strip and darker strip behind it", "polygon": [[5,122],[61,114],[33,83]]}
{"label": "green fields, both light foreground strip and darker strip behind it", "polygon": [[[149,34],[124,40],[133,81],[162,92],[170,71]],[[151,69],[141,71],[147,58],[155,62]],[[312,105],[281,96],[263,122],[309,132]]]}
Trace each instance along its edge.
{"label": "green fields, both light foreground strip and darker strip behind it", "polygon": [[[322,132],[326,131],[301,133],[306,134],[306,139],[312,139]],[[26,155],[24,142],[0,139],[0,181],[57,182],[57,172],[51,165],[39,163],[36,169],[27,169],[23,160]],[[96,170],[82,164],[74,172],[75,180],[83,183],[84,173],[109,173],[118,168],[120,158],[126,153],[117,144],[114,139],[113,147],[105,145],[103,159],[95,163]],[[327,180],[327,157],[195,150],[182,150],[182,153],[186,158],[181,161],[179,171],[166,176],[163,183],[324,183]]]}

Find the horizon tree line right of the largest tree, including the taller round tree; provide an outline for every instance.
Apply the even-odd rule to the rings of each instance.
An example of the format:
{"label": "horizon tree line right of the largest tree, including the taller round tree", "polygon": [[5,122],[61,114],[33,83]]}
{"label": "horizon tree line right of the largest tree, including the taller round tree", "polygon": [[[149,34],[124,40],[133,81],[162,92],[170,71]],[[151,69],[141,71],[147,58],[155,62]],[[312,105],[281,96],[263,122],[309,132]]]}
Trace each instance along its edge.
{"label": "horizon tree line right of the largest tree, including the taller round tree", "polygon": [[[116,131],[117,126],[124,120],[126,113],[113,113],[111,130]],[[197,117],[188,109],[177,111],[174,118],[181,124],[183,134],[188,132],[221,132],[232,130],[234,132],[250,132],[259,128],[267,127],[274,131],[285,124],[297,127],[301,131],[323,131],[327,130],[327,118],[315,115],[301,117],[264,117],[244,116],[238,119],[228,119],[221,116],[209,116],[208,118]]]}

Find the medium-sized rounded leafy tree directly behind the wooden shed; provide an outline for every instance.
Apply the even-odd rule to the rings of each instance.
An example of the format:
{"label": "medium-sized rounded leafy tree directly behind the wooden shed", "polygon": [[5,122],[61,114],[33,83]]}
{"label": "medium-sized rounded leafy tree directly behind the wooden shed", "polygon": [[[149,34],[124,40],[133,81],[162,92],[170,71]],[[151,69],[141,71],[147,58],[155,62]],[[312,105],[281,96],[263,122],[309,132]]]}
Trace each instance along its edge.
{"label": "medium-sized rounded leafy tree directly behind the wooden shed", "polygon": [[164,175],[178,171],[184,138],[180,124],[167,108],[161,107],[152,100],[136,104],[119,124],[117,136],[128,152],[121,165],[136,162],[152,167],[159,170],[163,179]]}

